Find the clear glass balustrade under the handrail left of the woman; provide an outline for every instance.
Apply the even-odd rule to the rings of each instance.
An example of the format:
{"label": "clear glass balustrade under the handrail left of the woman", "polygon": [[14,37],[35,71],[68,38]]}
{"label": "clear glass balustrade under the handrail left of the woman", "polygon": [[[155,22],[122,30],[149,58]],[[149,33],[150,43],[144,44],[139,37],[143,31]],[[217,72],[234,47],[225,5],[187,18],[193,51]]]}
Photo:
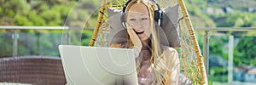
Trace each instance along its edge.
{"label": "clear glass balustrade under the handrail left of the woman", "polygon": [[[67,37],[68,32],[68,37]],[[60,57],[58,46],[61,44],[88,46],[90,30],[18,30],[17,56]],[[0,57],[13,56],[13,31],[0,31]],[[68,38],[68,39],[67,39]],[[67,43],[68,42],[68,43]]]}

